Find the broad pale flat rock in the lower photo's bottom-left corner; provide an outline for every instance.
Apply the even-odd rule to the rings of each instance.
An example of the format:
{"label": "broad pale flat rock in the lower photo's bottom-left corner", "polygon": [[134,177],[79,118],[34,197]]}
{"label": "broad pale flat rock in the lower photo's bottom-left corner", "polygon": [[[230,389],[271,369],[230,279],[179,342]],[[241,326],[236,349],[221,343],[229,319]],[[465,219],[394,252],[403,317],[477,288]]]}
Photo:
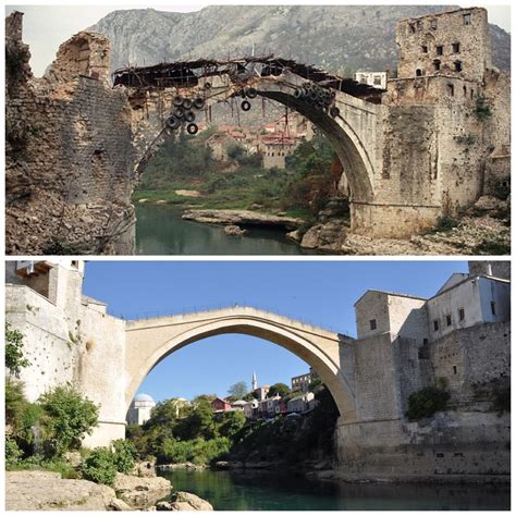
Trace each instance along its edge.
{"label": "broad pale flat rock in the lower photo's bottom-left corner", "polygon": [[8,511],[131,511],[111,488],[51,471],[7,471]]}

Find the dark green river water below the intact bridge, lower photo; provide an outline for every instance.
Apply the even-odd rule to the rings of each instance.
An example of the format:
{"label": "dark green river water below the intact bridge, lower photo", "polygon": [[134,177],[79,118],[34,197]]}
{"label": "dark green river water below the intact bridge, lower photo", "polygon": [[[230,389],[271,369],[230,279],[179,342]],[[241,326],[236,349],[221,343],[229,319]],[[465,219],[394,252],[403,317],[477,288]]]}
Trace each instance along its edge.
{"label": "dark green river water below the intact bridge, lower photo", "polygon": [[163,471],[216,511],[508,511],[501,486],[345,483],[271,471]]}

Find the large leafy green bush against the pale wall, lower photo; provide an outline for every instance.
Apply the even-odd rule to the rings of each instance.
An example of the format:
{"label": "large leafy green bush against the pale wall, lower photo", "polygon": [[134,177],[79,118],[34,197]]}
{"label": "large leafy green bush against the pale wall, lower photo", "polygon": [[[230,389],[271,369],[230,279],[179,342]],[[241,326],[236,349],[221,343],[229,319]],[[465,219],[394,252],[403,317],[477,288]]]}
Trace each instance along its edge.
{"label": "large leafy green bush against the pale wall, lower photo", "polygon": [[45,411],[41,423],[47,453],[52,456],[60,457],[67,450],[78,447],[97,425],[98,407],[71,385],[45,393],[38,403]]}

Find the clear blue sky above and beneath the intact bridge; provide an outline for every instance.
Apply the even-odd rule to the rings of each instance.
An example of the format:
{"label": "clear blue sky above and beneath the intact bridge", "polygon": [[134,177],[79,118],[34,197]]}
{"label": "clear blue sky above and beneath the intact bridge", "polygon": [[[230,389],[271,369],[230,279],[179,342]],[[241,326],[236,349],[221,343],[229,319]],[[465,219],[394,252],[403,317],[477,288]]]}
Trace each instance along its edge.
{"label": "clear blue sky above and beneath the intact bridge", "polygon": [[[354,303],[368,288],[430,297],[464,261],[89,261],[84,293],[109,312],[136,318],[235,303],[356,335]],[[183,347],[159,364],[139,392],[160,401],[226,395],[253,371],[260,384],[308,372],[295,355],[246,335],[219,335]]]}

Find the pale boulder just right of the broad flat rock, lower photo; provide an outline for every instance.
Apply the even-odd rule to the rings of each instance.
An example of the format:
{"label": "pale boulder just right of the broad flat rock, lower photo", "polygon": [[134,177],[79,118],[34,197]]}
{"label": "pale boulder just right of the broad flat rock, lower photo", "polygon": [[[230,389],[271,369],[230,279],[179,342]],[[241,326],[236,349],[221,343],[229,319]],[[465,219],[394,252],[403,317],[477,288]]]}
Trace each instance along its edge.
{"label": "pale boulder just right of the broad flat rock, lower photo", "polygon": [[125,503],[134,508],[144,508],[167,496],[172,484],[162,477],[132,477],[119,472],[113,488]]}

